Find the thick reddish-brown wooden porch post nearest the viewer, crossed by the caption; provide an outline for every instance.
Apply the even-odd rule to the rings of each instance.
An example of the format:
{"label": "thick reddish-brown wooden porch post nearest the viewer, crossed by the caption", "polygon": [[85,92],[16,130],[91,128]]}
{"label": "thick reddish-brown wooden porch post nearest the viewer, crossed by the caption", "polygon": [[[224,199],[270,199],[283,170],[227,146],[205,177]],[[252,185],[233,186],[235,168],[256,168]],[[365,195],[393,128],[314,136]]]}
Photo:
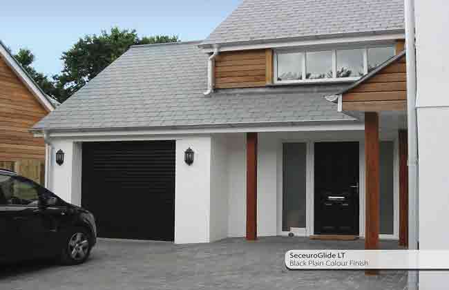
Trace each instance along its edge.
{"label": "thick reddish-brown wooden porch post nearest the viewer, crossed by the caption", "polygon": [[[365,113],[365,249],[379,249],[379,115]],[[376,275],[379,271],[365,271],[367,275]]]}

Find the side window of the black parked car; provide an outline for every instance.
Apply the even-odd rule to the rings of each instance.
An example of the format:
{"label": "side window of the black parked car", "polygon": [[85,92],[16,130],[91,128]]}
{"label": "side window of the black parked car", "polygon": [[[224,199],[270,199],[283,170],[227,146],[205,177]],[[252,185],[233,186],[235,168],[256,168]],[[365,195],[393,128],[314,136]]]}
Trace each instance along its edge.
{"label": "side window of the black parked car", "polygon": [[21,177],[0,175],[0,204],[37,206],[38,190],[34,183]]}

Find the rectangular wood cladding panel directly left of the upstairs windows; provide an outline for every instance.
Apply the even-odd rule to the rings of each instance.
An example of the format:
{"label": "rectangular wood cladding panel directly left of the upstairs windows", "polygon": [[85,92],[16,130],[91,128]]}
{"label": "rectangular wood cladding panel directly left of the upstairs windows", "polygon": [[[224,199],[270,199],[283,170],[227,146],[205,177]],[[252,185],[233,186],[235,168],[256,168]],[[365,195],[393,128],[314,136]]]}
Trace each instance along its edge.
{"label": "rectangular wood cladding panel directly left of the upstairs windows", "polygon": [[273,79],[273,52],[271,49],[220,52],[214,70],[216,88],[262,87]]}

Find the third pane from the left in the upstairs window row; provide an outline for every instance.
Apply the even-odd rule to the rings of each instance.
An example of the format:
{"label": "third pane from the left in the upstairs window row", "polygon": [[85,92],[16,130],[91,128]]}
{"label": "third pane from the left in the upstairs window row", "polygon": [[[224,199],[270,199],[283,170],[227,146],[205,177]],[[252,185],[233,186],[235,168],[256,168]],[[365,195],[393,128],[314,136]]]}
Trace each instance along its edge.
{"label": "third pane from the left in the upstairs window row", "polygon": [[363,75],[363,50],[337,50],[337,77],[361,77]]}

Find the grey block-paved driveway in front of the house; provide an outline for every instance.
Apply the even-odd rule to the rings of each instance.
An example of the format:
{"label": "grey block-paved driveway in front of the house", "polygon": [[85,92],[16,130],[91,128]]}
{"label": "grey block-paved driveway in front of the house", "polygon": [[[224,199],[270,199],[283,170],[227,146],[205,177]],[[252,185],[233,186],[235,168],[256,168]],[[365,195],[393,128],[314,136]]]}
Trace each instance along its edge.
{"label": "grey block-paved driveway in front of the house", "polygon": [[[397,242],[381,242],[396,249]],[[289,249],[363,249],[363,240],[232,238],[211,244],[99,240],[76,267],[22,264],[0,271],[0,289],[405,289],[403,271],[365,276],[363,271],[288,271]]]}

